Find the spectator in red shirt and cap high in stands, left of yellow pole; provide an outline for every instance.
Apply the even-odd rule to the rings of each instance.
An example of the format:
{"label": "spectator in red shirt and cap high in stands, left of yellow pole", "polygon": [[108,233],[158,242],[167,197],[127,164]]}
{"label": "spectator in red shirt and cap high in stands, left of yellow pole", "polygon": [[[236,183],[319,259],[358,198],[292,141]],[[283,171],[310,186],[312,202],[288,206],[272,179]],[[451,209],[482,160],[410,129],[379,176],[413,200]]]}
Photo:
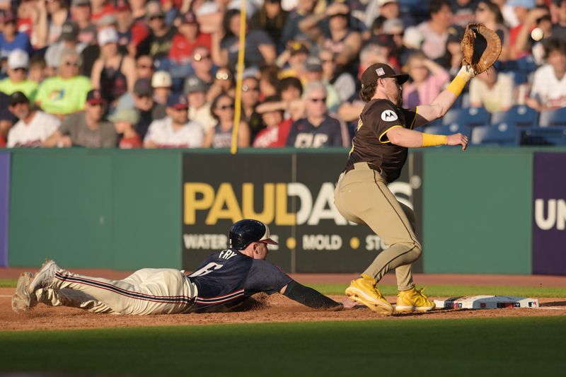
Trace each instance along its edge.
{"label": "spectator in red shirt and cap high in stands, left of yellow pole", "polygon": [[180,17],[178,33],[173,36],[173,45],[169,50],[169,59],[176,64],[189,64],[192,53],[197,46],[212,48],[210,34],[200,33],[197,18],[192,12],[187,12]]}

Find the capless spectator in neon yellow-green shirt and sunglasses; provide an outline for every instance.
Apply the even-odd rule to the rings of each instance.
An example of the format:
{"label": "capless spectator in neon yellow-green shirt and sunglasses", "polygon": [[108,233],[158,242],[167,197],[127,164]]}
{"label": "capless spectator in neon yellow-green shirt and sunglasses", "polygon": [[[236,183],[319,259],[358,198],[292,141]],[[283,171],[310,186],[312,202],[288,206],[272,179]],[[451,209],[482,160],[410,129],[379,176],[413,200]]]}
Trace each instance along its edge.
{"label": "capless spectator in neon yellow-green shirt and sunglasses", "polygon": [[91,90],[91,80],[79,75],[79,54],[64,50],[61,54],[58,76],[45,79],[37,89],[35,103],[58,117],[84,109],[86,94]]}

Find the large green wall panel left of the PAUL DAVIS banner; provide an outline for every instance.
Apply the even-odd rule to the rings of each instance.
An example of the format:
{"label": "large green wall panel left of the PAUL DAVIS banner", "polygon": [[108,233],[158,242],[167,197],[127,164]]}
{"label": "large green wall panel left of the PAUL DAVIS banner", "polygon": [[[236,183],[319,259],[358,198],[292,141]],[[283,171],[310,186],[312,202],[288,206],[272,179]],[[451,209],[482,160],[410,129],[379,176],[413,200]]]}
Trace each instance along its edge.
{"label": "large green wall panel left of the PAUL DAVIS banner", "polygon": [[180,164],[175,151],[11,151],[9,265],[179,266]]}

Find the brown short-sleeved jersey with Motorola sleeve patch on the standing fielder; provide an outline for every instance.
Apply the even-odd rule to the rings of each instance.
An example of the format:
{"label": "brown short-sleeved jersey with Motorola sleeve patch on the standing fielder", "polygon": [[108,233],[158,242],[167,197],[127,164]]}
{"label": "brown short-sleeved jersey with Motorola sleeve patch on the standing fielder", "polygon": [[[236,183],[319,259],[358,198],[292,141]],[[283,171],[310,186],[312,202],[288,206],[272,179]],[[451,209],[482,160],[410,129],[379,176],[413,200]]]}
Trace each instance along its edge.
{"label": "brown short-sleeved jersey with Motorola sleeve patch on the standing fielder", "polygon": [[408,148],[391,143],[387,132],[395,127],[412,129],[415,117],[416,110],[398,108],[389,100],[366,103],[352,139],[346,170],[354,168],[354,163],[366,162],[374,168],[381,168],[387,182],[399,178],[407,160]]}

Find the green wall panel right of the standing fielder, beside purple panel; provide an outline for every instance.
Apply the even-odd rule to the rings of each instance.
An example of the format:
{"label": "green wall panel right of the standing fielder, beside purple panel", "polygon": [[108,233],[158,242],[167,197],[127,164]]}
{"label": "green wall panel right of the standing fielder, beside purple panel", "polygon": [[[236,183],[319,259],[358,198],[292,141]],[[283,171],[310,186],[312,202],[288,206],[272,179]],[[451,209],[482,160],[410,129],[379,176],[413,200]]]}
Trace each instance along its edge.
{"label": "green wall panel right of the standing fielder, beside purple panel", "polygon": [[531,274],[532,153],[522,149],[427,151],[427,273]]}

